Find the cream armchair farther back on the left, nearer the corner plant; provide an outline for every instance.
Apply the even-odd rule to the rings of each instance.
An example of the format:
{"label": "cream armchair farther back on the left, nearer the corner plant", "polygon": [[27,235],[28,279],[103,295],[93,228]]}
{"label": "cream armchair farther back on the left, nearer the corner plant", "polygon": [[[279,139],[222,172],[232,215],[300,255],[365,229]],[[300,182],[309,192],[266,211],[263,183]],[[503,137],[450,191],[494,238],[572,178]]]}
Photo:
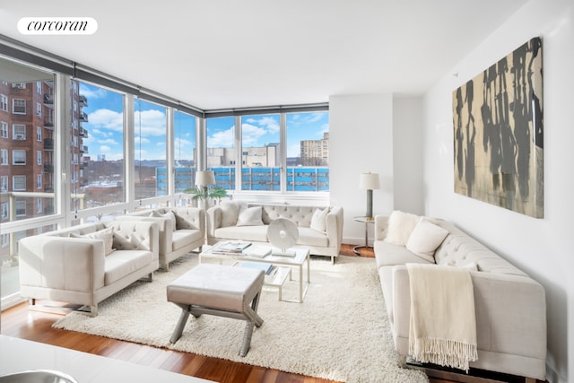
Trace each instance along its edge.
{"label": "cream armchair farther back on the left, nearer the corner plant", "polygon": [[205,211],[199,207],[161,207],[137,210],[116,220],[142,220],[160,225],[160,267],[205,244]]}

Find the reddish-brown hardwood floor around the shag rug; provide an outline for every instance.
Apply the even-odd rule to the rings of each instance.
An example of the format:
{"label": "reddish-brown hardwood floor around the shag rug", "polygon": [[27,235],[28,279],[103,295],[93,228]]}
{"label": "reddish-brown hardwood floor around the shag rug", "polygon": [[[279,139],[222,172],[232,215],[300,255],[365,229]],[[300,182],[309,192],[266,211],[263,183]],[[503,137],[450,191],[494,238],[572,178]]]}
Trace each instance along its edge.
{"label": "reddish-brown hardwood floor around the shag rug", "polygon": [[[353,256],[352,246],[344,245],[342,254]],[[361,248],[361,257],[374,257],[372,248]],[[202,379],[229,383],[327,383],[332,380],[305,377],[279,370],[265,369],[234,361],[224,361],[192,353],[156,348],[152,346],[118,341],[102,336],[87,335],[52,328],[61,313],[49,313],[28,309],[27,303],[2,311],[0,329],[3,335],[53,344],[85,353],[130,361]],[[302,356],[304,357],[304,356]],[[430,373],[431,383],[489,382],[465,375],[439,371]],[[436,376],[436,377],[435,377]]]}

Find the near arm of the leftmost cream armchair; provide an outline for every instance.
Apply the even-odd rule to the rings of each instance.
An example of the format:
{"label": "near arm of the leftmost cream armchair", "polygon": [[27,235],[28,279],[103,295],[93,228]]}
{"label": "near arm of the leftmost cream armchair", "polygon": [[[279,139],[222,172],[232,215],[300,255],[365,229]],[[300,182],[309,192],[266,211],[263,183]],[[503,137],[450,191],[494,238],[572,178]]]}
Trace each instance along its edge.
{"label": "near arm of the leftmost cream armchair", "polygon": [[95,292],[104,286],[104,243],[100,239],[36,235],[20,239],[22,296],[38,287]]}

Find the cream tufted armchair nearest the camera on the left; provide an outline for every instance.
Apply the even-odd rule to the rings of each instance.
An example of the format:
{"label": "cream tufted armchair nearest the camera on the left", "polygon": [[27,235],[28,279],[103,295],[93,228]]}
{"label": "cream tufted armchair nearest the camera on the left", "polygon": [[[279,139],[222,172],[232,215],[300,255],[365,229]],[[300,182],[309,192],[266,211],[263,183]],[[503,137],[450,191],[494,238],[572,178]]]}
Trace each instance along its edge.
{"label": "cream tufted armchair nearest the camera on the left", "polygon": [[158,223],[84,223],[20,239],[20,293],[90,307],[159,267]]}

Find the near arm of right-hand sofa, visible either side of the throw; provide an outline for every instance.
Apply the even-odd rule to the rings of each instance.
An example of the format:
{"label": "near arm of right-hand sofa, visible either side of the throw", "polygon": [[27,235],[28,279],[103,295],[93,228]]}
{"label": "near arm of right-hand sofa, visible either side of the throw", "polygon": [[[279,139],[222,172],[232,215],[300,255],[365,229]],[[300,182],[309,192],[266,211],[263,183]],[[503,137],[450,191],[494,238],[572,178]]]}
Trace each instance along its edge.
{"label": "near arm of right-hand sofa, visible either side of the throw", "polygon": [[[544,287],[530,277],[469,271],[474,287],[479,350],[546,358]],[[405,265],[393,267],[393,310],[397,337],[408,339],[411,293]],[[479,356],[480,357],[480,356]]]}

